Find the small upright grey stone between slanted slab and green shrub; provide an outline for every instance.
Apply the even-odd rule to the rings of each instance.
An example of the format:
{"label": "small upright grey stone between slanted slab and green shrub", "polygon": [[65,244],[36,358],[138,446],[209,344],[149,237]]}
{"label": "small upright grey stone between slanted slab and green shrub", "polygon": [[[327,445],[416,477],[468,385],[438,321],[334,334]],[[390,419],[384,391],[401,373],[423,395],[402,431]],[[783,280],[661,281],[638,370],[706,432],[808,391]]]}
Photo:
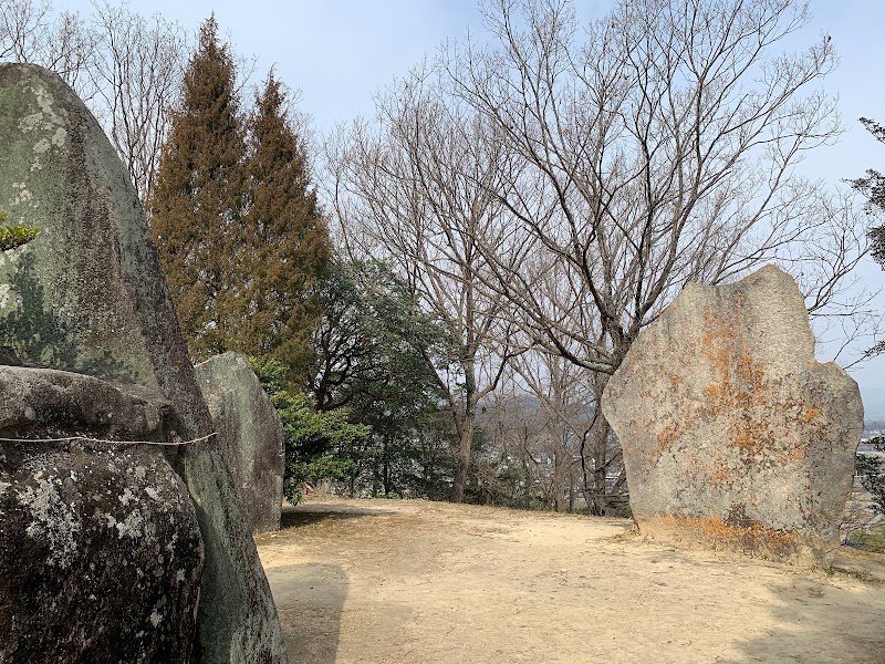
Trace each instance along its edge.
{"label": "small upright grey stone between slanted slab and green shrub", "polygon": [[216,355],[195,371],[247,526],[278,530],[285,457],[277,409],[244,355]]}

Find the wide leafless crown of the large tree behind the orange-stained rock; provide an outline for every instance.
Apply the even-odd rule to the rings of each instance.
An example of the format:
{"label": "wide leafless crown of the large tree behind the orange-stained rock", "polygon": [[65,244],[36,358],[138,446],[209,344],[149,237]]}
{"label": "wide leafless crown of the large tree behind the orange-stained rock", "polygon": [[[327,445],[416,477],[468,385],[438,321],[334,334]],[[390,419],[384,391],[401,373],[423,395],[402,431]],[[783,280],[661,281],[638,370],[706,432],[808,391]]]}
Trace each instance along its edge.
{"label": "wide leafless crown of the large tree behind the orange-stained rock", "polygon": [[[622,0],[583,31],[568,0],[485,12],[497,44],[445,52],[439,84],[508,154],[492,193],[532,255],[514,262],[479,237],[483,284],[535,343],[595,372],[597,400],[689,281],[773,261],[813,313],[856,313],[863,300],[840,298],[867,250],[858,217],[794,172],[839,132],[815,89],[833,48],[773,52],[806,23],[804,6]],[[594,436],[602,449],[602,415]]]}

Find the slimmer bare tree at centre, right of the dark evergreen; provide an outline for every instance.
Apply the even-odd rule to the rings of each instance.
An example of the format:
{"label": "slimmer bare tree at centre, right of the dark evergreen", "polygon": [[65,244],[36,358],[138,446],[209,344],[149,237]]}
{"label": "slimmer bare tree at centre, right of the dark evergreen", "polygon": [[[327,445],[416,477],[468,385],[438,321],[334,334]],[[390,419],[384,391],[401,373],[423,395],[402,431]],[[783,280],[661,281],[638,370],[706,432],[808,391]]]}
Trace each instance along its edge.
{"label": "slimmer bare tree at centre, right of the dark evergreen", "polygon": [[[448,395],[457,433],[451,499],[461,501],[476,434],[477,404],[500,380],[509,356],[502,343],[504,299],[480,288],[487,270],[479,243],[500,247],[497,144],[482,139],[477,114],[461,116],[423,70],[396,82],[377,101],[377,126],[356,123],[330,153],[340,227],[371,241],[449,330],[451,363],[434,365]],[[353,243],[353,242],[352,242]]]}

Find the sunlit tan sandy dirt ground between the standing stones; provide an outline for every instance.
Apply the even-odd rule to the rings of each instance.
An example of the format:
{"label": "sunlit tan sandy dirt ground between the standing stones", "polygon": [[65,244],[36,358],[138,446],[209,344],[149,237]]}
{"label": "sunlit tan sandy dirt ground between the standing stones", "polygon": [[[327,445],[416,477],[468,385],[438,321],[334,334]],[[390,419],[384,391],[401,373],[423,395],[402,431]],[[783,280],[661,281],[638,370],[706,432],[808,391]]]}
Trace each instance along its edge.
{"label": "sunlit tan sandy dirt ground between the standing stones", "polygon": [[885,557],[824,574],[631,529],[324,499],[257,541],[292,663],[885,664]]}

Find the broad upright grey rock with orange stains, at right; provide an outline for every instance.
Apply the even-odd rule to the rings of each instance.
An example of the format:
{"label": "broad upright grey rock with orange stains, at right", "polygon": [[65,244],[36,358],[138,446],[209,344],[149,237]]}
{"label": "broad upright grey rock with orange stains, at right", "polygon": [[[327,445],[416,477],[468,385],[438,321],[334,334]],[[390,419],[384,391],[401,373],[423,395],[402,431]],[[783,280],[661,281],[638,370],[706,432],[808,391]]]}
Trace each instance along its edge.
{"label": "broad upright grey rock with orange stains, at right", "polygon": [[842,369],[814,360],[789,274],[686,287],[633,343],[602,408],[641,532],[827,564],[863,406]]}

